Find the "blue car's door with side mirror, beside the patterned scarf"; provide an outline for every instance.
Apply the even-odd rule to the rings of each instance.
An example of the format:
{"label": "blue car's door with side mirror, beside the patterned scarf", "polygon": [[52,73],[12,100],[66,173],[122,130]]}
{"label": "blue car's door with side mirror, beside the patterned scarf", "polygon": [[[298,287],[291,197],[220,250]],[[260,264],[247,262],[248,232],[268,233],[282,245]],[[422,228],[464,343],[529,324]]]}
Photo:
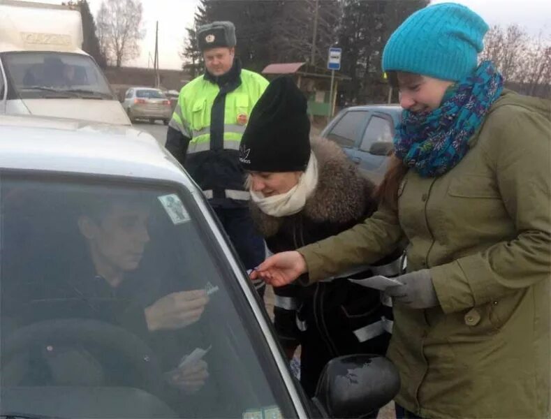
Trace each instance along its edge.
{"label": "blue car's door with side mirror, beside the patterned scarf", "polygon": [[392,117],[384,112],[370,112],[356,158],[360,160],[360,170],[376,183],[381,182],[385,175],[393,137]]}

